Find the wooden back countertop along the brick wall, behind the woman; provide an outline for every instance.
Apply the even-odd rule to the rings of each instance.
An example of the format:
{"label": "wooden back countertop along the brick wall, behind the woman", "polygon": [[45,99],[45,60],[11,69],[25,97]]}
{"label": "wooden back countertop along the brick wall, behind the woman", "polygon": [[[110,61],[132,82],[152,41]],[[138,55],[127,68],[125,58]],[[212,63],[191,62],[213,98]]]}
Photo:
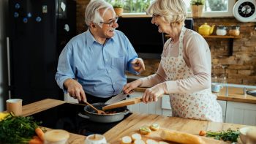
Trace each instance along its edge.
{"label": "wooden back countertop along the brick wall, behind the woman", "polygon": [[[136,88],[135,91],[144,92],[146,88]],[[218,100],[232,101],[232,102],[244,102],[256,104],[256,96],[246,95],[244,96],[243,88],[228,88],[228,96],[225,96],[225,88],[217,94]]]}

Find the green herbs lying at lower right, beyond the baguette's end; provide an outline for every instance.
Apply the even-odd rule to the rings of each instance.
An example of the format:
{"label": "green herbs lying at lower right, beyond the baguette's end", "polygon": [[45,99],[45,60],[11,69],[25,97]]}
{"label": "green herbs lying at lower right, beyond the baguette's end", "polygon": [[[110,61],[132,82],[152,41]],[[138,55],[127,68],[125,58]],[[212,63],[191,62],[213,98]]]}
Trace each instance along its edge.
{"label": "green herbs lying at lower right, beyond the baguette's end", "polygon": [[227,129],[227,131],[220,131],[220,132],[206,132],[206,137],[214,137],[216,140],[224,140],[224,141],[231,141],[231,142],[237,142],[237,137],[239,135],[239,131]]}

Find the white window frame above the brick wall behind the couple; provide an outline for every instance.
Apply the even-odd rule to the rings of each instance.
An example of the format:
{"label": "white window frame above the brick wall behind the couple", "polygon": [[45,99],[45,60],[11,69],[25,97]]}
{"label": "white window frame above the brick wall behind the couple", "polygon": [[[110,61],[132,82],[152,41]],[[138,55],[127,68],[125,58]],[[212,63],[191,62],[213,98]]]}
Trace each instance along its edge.
{"label": "white window frame above the brick wall behind the couple", "polygon": [[[202,17],[233,17],[233,7],[236,4],[236,0],[228,0],[227,12],[203,12]],[[146,12],[141,13],[123,13],[124,17],[148,17]],[[187,12],[187,17],[192,18],[192,13]]]}

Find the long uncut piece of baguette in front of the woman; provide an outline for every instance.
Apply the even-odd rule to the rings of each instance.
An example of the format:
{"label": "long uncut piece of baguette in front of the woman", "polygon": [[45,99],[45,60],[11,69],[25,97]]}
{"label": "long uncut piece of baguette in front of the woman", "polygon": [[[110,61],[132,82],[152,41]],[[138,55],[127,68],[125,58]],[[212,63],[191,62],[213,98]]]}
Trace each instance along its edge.
{"label": "long uncut piece of baguette in front of the woman", "polygon": [[168,140],[176,143],[192,143],[192,144],[205,144],[205,141],[201,137],[197,137],[194,134],[188,134],[185,132],[178,132],[174,130],[163,130],[161,133],[163,140]]}

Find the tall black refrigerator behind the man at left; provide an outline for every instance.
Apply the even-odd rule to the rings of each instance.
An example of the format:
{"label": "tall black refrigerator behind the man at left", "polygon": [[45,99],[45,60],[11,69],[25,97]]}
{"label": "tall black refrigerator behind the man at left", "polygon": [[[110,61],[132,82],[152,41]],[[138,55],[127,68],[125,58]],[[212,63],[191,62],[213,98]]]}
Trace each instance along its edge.
{"label": "tall black refrigerator behind the man at left", "polygon": [[23,105],[64,99],[55,81],[59,54],[76,33],[74,0],[9,0],[9,98]]}

